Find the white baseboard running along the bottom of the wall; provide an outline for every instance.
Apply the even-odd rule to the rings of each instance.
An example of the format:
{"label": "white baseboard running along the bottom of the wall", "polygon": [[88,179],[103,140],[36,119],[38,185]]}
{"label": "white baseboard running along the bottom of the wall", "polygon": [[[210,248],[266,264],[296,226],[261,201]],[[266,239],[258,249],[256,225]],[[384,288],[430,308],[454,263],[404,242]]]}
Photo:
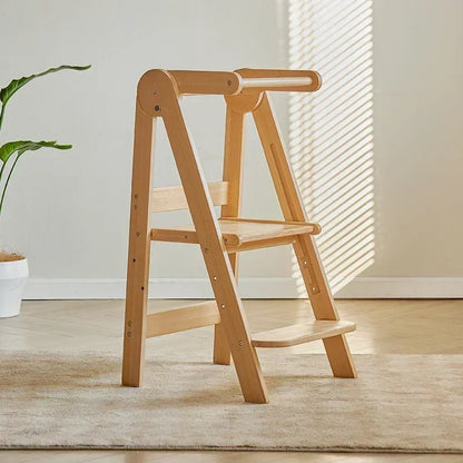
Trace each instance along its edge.
{"label": "white baseboard running along the bottom of the wall", "polygon": [[[119,299],[124,278],[30,278],[24,299]],[[240,278],[243,298],[298,298],[294,278]],[[211,298],[206,278],[154,278],[149,297]],[[463,298],[463,277],[357,277],[335,294],[336,298]]]}

